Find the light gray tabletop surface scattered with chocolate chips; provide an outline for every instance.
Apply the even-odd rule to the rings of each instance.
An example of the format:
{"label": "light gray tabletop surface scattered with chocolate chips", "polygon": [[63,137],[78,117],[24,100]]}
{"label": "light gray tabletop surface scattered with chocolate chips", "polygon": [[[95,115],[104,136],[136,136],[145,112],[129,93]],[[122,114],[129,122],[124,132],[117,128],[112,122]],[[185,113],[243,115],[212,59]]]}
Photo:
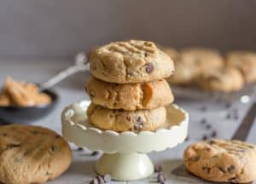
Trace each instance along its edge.
{"label": "light gray tabletop surface scattered with chocolate chips", "polygon": [[[21,63],[21,62],[20,62]],[[5,77],[7,75],[12,76],[16,79],[24,79],[26,81],[32,82],[44,82],[46,79],[55,75],[56,72],[60,72],[67,66],[71,65],[72,62],[58,60],[32,60],[23,61],[22,64],[17,64],[13,61],[1,61],[0,62],[0,84],[2,85]],[[42,118],[33,124],[43,125],[49,127],[50,129],[55,129],[61,132],[61,110],[64,106],[67,106],[74,101],[80,101],[82,99],[88,99],[88,96],[84,93],[84,83],[88,77],[88,73],[78,73],[77,75],[68,78],[66,81],[60,83],[55,87],[55,90],[61,97],[57,108],[51,112],[51,114]],[[247,108],[250,104],[241,104],[239,101],[235,101],[230,109],[226,109],[224,102],[214,102],[214,101],[184,101],[177,99],[176,103],[179,106],[183,106],[190,114],[189,122],[189,141],[184,142],[182,145],[175,147],[173,149],[168,149],[164,152],[151,152],[149,154],[150,158],[155,164],[162,164],[165,175],[168,179],[168,183],[185,184],[185,183],[204,183],[204,181],[199,181],[198,179],[187,179],[179,177],[177,175],[172,175],[171,170],[177,168],[178,165],[182,163],[183,150],[189,143],[193,141],[198,141],[203,135],[210,135],[213,129],[217,130],[218,138],[230,139],[234,134],[237,127],[239,126],[241,119],[245,115]],[[207,111],[202,112],[201,107],[207,106]],[[232,109],[238,109],[239,119],[226,119],[228,112]],[[201,125],[201,118],[207,118],[207,123],[211,124],[212,129],[206,129],[205,125]],[[248,135],[247,141],[256,144],[256,124],[254,123],[253,129],[251,129]],[[76,151],[76,147],[73,147],[73,164],[70,169],[64,175],[55,181],[49,181],[52,184],[84,184],[89,183],[92,177],[96,176],[94,171],[94,164],[96,157],[90,157],[86,153],[90,153],[89,150],[84,150],[84,152]],[[155,175],[149,177],[147,180],[143,181],[133,181],[127,183],[154,183]],[[125,182],[112,182],[112,183],[125,183]]]}

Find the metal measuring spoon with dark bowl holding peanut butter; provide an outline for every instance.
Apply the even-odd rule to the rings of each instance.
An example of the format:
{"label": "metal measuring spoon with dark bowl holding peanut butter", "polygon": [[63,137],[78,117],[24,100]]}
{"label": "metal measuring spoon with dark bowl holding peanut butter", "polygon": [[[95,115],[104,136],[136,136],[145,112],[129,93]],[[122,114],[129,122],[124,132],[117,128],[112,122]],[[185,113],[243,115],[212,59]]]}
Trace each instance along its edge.
{"label": "metal measuring spoon with dark bowl holding peanut butter", "polygon": [[59,95],[50,88],[74,73],[88,70],[88,63],[89,61],[87,56],[84,53],[79,53],[75,56],[73,66],[69,66],[64,71],[59,72],[55,77],[50,78],[47,82],[38,84],[39,92],[44,92],[50,96],[50,104],[38,106],[0,106],[0,124],[28,124],[49,114],[49,112],[55,108],[59,99]]}

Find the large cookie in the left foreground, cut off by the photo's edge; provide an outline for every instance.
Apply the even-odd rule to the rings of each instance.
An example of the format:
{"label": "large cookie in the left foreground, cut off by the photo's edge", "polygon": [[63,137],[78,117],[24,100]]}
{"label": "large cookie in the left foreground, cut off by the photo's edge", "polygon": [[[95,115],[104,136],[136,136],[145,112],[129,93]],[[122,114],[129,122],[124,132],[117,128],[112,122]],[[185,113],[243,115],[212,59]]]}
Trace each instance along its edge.
{"label": "large cookie in the left foreground, cut off by the photo's edge", "polygon": [[0,181],[8,184],[44,183],[61,175],[72,152],[60,135],[30,125],[0,127]]}

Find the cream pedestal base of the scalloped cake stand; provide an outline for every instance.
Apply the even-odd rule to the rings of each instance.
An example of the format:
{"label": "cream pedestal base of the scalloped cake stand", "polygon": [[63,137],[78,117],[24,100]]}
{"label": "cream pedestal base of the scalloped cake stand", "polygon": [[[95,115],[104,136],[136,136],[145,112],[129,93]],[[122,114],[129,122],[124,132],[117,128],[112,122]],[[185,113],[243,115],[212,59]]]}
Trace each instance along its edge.
{"label": "cream pedestal base of the scalloped cake stand", "polygon": [[154,165],[147,154],[105,153],[96,162],[96,172],[99,175],[109,174],[117,181],[133,181],[152,175]]}

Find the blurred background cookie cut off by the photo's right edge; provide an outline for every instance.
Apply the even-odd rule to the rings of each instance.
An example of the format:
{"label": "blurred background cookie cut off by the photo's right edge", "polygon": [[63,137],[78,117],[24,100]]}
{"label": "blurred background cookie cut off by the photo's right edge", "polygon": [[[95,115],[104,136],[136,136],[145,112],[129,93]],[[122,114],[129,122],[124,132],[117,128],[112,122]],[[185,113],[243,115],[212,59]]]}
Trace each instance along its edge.
{"label": "blurred background cookie cut off by the photo's right edge", "polygon": [[256,53],[234,51],[227,54],[227,65],[238,68],[247,83],[256,82]]}

